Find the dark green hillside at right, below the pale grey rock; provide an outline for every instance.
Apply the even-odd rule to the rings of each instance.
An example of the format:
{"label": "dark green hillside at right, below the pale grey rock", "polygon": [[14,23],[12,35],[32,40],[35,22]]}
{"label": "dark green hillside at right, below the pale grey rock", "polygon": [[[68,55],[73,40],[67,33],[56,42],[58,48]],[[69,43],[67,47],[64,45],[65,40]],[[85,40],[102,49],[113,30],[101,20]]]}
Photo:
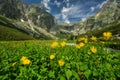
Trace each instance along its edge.
{"label": "dark green hillside at right, below the pale grey rock", "polygon": [[103,36],[103,32],[110,31],[113,35],[113,40],[119,40],[120,41],[120,21],[115,21],[113,23],[110,23],[108,25],[102,26],[102,28],[96,28],[94,30],[88,31],[84,34],[80,34],[79,36],[97,36],[98,38]]}

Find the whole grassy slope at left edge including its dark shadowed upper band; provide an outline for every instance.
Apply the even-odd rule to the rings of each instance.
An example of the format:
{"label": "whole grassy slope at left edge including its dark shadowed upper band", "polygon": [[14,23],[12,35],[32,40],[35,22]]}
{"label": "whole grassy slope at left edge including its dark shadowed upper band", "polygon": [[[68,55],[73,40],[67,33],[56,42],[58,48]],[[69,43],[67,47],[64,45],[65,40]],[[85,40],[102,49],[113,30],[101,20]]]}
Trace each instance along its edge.
{"label": "whole grassy slope at left edge including its dark shadowed upper band", "polygon": [[11,21],[0,16],[0,40],[32,40],[24,31],[16,29]]}

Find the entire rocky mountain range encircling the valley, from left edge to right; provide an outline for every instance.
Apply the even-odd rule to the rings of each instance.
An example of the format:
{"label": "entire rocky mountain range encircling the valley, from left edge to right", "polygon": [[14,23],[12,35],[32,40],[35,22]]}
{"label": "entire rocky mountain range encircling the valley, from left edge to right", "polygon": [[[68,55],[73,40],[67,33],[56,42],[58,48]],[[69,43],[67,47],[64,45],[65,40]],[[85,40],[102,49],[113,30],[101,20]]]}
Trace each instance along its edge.
{"label": "entire rocky mountain range encircling the valley, from left edge to right", "polygon": [[13,32],[16,30],[19,35],[28,36],[27,39],[69,38],[81,34],[99,35],[103,31],[119,35],[119,14],[120,0],[107,0],[95,15],[86,20],[75,24],[58,24],[55,17],[45,11],[43,5],[28,5],[20,0],[0,0],[0,29],[3,30],[3,27],[6,29],[1,35],[5,35],[9,30],[9,34],[14,36],[15,34],[11,33],[14,29]]}

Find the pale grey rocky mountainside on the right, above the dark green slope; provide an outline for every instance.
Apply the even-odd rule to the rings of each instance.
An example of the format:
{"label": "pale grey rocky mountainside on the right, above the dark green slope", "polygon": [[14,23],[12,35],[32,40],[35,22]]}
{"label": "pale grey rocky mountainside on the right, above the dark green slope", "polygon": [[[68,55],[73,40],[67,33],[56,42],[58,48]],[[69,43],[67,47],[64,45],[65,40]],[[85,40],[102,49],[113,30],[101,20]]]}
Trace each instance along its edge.
{"label": "pale grey rocky mountainside on the right, above the dark green slope", "polygon": [[108,0],[94,16],[74,24],[74,32],[82,34],[117,20],[120,20],[120,0]]}

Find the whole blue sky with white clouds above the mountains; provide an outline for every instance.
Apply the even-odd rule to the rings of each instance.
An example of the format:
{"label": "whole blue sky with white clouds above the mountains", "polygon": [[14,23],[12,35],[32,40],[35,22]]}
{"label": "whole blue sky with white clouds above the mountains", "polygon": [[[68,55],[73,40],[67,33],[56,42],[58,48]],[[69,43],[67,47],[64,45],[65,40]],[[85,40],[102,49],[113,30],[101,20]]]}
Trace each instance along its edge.
{"label": "whole blue sky with white clouds above the mountains", "polygon": [[58,22],[74,23],[94,15],[107,0],[21,0],[28,4],[43,4]]}

